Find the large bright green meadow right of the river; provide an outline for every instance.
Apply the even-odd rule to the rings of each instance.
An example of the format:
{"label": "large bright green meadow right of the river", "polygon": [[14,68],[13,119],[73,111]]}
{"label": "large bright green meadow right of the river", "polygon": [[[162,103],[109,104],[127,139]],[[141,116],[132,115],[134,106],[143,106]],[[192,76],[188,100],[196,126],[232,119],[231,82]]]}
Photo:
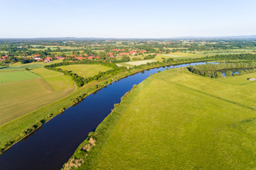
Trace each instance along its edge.
{"label": "large bright green meadow right of the river", "polygon": [[256,84],[242,85],[251,76],[211,79],[186,68],[152,75],[114,109],[119,119],[97,137],[90,168],[255,169]]}

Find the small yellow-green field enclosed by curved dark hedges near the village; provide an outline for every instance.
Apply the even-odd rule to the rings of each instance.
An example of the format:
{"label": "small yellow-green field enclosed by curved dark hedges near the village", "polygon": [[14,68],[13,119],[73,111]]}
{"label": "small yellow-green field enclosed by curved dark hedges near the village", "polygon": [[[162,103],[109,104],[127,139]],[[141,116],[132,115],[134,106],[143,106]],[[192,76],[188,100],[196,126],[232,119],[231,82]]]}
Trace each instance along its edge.
{"label": "small yellow-green field enclosed by curved dark hedges near the village", "polygon": [[100,64],[74,64],[57,67],[63,70],[71,71],[72,73],[78,74],[82,77],[93,77],[99,72],[106,72],[112,69],[111,67],[106,67]]}

